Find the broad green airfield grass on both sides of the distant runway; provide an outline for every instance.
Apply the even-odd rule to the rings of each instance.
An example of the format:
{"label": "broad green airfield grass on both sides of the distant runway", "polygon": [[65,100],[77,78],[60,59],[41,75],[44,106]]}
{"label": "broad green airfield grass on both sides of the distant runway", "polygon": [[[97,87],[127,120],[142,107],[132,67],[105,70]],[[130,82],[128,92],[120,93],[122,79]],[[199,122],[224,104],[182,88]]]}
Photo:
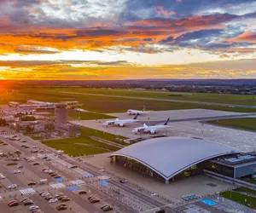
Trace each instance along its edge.
{"label": "broad green airfield grass on both sides of the distant runway", "polygon": [[[129,95],[128,90],[122,89],[23,89],[20,90],[19,93],[12,94],[1,94],[0,95],[0,104],[7,104],[9,101],[18,101],[21,103],[25,103],[27,100],[38,100],[38,101],[80,101],[83,104],[82,107],[85,110],[91,112],[100,112],[100,113],[111,113],[111,112],[126,112],[129,108],[134,109],[143,109],[144,101],[137,99],[127,99],[127,98],[119,98],[119,97],[107,97],[107,96],[96,96],[96,95],[83,95],[83,94],[65,94],[63,91],[73,91],[73,92],[88,92],[88,93],[96,93],[96,94],[114,94],[114,95],[126,95],[126,96],[143,96],[143,97],[151,97],[151,98],[164,98],[164,99],[175,99],[184,97],[201,97],[201,101],[212,101],[212,102],[229,102],[232,101],[242,101],[241,104],[245,104],[249,95],[224,95],[221,99],[222,95],[213,95],[213,94],[188,94],[188,93],[170,93],[166,91],[131,91],[131,95]],[[92,92],[94,91],[94,92]],[[120,93],[120,94],[119,94]],[[171,95],[171,96],[168,96]],[[182,95],[182,96],[175,96]],[[215,97],[215,99],[214,99]],[[218,97],[218,99],[217,99]],[[198,101],[195,100],[191,101]],[[215,101],[213,101],[215,100]],[[237,102],[236,102],[237,103]],[[183,103],[183,102],[170,102],[170,101],[154,101],[154,100],[146,100],[145,101],[146,108],[148,110],[178,110],[178,109],[194,109],[194,108],[203,108],[203,109],[212,109],[212,110],[222,110],[222,111],[230,111],[230,112],[256,112],[256,109],[247,109],[241,107],[221,107],[221,106],[210,106],[203,104],[194,104],[194,103]],[[75,115],[73,115],[76,117]],[[95,114],[96,116],[96,114]],[[86,118],[86,116],[85,116]],[[98,117],[94,117],[93,119],[97,119]]]}

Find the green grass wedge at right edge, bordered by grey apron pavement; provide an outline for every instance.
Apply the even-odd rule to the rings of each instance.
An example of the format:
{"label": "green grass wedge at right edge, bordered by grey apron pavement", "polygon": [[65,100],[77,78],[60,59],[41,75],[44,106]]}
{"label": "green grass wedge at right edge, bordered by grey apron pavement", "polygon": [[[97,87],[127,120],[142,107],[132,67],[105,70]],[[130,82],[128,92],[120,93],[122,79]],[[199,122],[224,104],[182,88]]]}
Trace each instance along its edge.
{"label": "green grass wedge at right edge, bordered by grey apron pavement", "polygon": [[212,120],[212,121],[208,121],[208,123],[229,126],[229,127],[239,128],[243,130],[256,131],[256,118]]}

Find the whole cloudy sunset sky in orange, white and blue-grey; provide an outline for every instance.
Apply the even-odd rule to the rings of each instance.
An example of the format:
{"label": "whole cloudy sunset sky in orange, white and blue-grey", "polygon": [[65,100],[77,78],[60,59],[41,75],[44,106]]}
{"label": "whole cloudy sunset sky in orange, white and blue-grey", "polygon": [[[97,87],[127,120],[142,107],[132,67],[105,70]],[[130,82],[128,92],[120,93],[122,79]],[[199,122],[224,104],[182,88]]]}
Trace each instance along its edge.
{"label": "whole cloudy sunset sky in orange, white and blue-grey", "polygon": [[0,0],[0,79],[256,78],[255,0]]}

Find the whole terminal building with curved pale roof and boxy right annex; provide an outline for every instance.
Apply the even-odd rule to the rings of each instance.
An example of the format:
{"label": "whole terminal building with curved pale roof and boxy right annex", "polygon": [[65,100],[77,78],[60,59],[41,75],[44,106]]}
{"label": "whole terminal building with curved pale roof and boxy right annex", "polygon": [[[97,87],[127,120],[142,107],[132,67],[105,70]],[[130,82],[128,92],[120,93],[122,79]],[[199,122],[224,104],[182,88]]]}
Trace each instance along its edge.
{"label": "whole terminal building with curved pale roof and boxy right annex", "polygon": [[160,137],[141,141],[108,156],[168,184],[183,177],[211,171],[231,178],[256,176],[256,153],[189,137]]}

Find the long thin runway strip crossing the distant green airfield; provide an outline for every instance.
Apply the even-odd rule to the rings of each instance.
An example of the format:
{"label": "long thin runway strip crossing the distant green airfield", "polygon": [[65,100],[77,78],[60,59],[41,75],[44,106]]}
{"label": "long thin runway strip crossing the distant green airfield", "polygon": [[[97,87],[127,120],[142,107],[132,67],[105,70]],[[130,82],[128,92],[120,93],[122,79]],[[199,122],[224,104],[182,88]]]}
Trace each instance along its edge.
{"label": "long thin runway strip crossing the distant green airfield", "polygon": [[103,95],[103,94],[76,93],[76,92],[61,92],[61,93],[106,96],[106,97],[150,100],[150,101],[169,101],[169,102],[178,102],[178,103],[204,104],[204,105],[212,105],[212,106],[220,106],[220,107],[242,107],[242,108],[256,109],[256,106],[247,106],[247,105],[240,105],[240,104],[225,104],[225,103],[201,102],[201,101],[183,101],[183,100],[170,100],[170,99],[159,99],[159,98],[148,98],[148,97],[131,97],[131,96],[123,96],[123,95]]}

